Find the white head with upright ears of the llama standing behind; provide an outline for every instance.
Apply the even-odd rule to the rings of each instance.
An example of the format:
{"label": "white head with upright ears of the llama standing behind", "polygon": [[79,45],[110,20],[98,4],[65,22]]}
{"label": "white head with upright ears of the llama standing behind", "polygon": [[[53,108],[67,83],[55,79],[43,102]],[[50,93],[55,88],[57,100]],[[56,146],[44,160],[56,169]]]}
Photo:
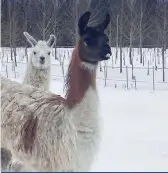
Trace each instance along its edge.
{"label": "white head with upright ears of the llama standing behind", "polygon": [[36,41],[29,33],[23,33],[27,38],[27,41],[32,46],[31,63],[36,69],[47,69],[50,66],[50,54],[52,47],[55,44],[55,36],[50,35],[48,41],[39,40]]}

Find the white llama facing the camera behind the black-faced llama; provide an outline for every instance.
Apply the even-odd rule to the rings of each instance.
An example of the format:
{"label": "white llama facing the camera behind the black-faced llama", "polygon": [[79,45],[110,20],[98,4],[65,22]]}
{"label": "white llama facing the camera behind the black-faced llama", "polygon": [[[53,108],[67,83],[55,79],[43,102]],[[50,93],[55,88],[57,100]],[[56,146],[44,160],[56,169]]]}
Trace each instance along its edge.
{"label": "white llama facing the camera behind the black-faced llama", "polygon": [[23,84],[48,90],[51,70],[50,55],[55,44],[55,36],[50,35],[47,42],[42,40],[37,42],[27,32],[23,32],[23,34],[32,46]]}

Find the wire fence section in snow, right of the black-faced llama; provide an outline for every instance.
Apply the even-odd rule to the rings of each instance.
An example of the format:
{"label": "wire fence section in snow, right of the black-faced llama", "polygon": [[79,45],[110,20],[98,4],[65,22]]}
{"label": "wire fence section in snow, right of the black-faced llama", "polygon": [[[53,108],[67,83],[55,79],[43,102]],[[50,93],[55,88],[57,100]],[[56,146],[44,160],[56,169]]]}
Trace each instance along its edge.
{"label": "wire fence section in snow, right of the black-faced llama", "polygon": [[[152,68],[134,68],[134,75],[132,75],[131,67],[123,67],[122,73],[117,73],[119,67],[110,68],[106,67],[104,71],[105,86],[114,86],[115,88],[126,89],[149,89],[149,90],[168,90],[168,80],[162,81],[162,68],[157,71]],[[165,69],[168,74],[168,68]],[[167,78],[166,78],[167,79]]]}

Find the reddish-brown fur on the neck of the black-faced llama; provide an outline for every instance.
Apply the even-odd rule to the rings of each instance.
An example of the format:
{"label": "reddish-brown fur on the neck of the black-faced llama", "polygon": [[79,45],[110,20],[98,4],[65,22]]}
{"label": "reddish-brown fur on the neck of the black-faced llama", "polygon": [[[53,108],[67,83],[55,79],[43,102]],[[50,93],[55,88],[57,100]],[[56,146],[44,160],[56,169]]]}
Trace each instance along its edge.
{"label": "reddish-brown fur on the neck of the black-faced llama", "polygon": [[90,87],[96,90],[96,68],[93,71],[85,68],[80,60],[77,48],[73,52],[69,65],[66,87],[66,105],[69,108],[73,108],[80,103]]}

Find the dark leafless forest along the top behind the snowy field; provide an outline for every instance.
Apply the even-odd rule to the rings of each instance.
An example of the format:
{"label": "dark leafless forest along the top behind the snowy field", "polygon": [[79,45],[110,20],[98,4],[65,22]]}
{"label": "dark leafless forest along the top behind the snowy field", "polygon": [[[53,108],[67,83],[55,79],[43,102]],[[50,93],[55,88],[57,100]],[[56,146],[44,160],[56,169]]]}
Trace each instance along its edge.
{"label": "dark leafless forest along the top behind the snowy field", "polygon": [[1,0],[1,46],[28,46],[23,31],[36,39],[57,37],[74,46],[77,21],[92,12],[89,25],[111,15],[107,34],[113,47],[168,48],[168,0]]}

